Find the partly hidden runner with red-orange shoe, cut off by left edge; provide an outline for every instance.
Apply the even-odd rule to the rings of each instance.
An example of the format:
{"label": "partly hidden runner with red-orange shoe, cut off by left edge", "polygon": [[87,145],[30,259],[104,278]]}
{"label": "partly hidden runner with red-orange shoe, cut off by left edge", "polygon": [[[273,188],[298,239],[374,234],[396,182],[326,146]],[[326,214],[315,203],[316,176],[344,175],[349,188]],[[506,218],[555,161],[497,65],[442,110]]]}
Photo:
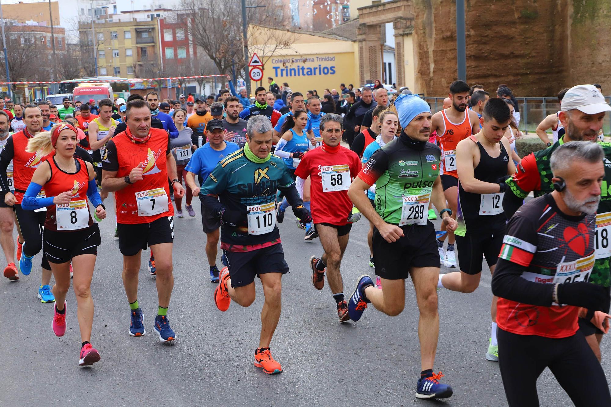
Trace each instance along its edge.
{"label": "partly hidden runner with red-orange shoe, cut off by left edge", "polygon": [[[20,106],[21,107],[21,106]],[[14,120],[14,119],[13,119]],[[9,142],[9,115],[0,112],[0,152]],[[9,190],[13,190],[13,162],[7,167],[7,181]],[[4,202],[6,192],[0,191],[0,245],[4,251],[7,266],[4,268],[4,276],[10,281],[17,281],[19,275],[15,267],[15,242],[13,241],[13,208]]]}

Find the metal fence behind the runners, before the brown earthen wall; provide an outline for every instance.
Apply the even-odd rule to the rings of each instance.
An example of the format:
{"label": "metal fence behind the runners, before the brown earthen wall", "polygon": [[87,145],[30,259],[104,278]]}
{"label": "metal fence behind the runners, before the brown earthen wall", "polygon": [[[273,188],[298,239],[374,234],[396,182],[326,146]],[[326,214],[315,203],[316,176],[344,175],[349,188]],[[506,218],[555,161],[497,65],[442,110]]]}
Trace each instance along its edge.
{"label": "metal fence behind the runners, before the brown earthen wall", "polygon": [[[445,96],[443,98],[425,96],[423,99],[430,103],[431,111],[436,113],[441,110]],[[541,120],[547,115],[560,110],[560,104],[558,103],[557,97],[516,99],[518,100],[518,110],[520,111],[519,128],[524,134],[529,134],[529,132],[534,133],[536,127],[541,123]],[[611,96],[605,96],[605,99],[607,103],[609,103]],[[611,115],[606,115],[602,131],[604,134],[611,134]]]}

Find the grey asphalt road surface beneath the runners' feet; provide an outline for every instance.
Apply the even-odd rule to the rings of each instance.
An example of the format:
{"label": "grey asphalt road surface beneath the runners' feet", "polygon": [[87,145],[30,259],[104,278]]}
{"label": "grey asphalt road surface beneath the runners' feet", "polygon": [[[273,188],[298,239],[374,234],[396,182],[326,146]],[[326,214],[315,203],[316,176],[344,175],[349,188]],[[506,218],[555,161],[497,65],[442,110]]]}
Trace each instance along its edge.
{"label": "grey asphalt road surface beneath the runners' feet", "polygon": [[[155,278],[148,275],[148,253],[142,256],[139,303],[147,334],[128,335],[129,308],[123,291],[122,258],[114,238],[114,211],[101,223],[102,246],[92,282],[95,301],[92,344],[101,361],[79,367],[81,344],[76,300],[68,293],[68,330],[51,331],[53,305],[37,299],[40,255],[30,276],[10,283],[0,280],[0,405],[2,406],[506,406],[496,362],[484,358],[490,334],[490,275],[483,272],[473,294],[439,291],[441,332],[435,371],[454,389],[445,402],[414,397],[420,373],[418,310],[414,289],[406,284],[406,307],[388,317],[373,307],[359,322],[340,325],[327,287],[310,283],[308,259],[321,254],[318,239],[302,240],[290,211],[280,225],[291,272],[283,278],[283,309],[271,344],[282,364],[279,375],[253,366],[263,304],[235,303],[216,309],[203,252],[205,235],[194,200],[196,218],[175,220],[175,286],[170,323],[178,339],[162,344],[153,331],[157,309]],[[342,274],[346,297],[367,266],[367,220],[354,225]],[[220,259],[218,262],[221,265]],[[442,272],[448,270],[442,268]],[[602,344],[603,367],[611,379],[610,340]],[[576,372],[576,374],[587,374]],[[549,370],[538,389],[542,406],[570,406],[571,401]],[[431,404],[432,403],[432,404]]]}

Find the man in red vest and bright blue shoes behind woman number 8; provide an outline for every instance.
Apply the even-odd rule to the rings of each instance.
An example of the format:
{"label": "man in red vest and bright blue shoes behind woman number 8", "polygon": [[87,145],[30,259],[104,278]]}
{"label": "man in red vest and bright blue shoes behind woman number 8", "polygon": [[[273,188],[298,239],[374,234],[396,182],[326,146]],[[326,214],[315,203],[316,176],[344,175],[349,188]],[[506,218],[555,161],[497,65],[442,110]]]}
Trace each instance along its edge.
{"label": "man in red vest and bright blue shoes behind woman number 8", "polygon": [[[50,156],[37,153],[27,153],[28,140],[40,132],[43,123],[40,107],[27,104],[23,108],[23,120],[26,124],[20,132],[11,135],[0,154],[0,185],[4,193],[4,203],[13,207],[15,212],[17,232],[17,261],[24,276],[32,272],[32,258],[42,250],[42,229],[45,224],[45,211],[28,211],[21,207],[23,194],[32,180],[34,171]],[[13,166],[13,178],[10,179],[8,168]],[[9,181],[10,180],[10,181]],[[12,185],[11,183],[12,182]],[[14,192],[9,192],[14,189]],[[42,194],[42,192],[41,192]],[[38,298],[42,303],[53,303],[55,297],[51,294],[51,266],[42,256],[42,278],[38,287]]]}

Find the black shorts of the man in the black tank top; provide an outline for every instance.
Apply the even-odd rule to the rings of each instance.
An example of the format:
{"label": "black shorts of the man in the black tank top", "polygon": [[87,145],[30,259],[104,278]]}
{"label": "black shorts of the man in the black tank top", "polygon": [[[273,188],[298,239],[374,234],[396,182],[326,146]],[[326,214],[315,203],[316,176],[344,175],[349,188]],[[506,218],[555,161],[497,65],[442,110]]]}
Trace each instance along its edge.
{"label": "black shorts of the man in the black tank top", "polygon": [[481,256],[486,257],[488,267],[496,264],[499,258],[500,247],[503,245],[505,228],[480,231],[469,231],[463,236],[456,237],[458,249],[458,264],[461,272],[469,275],[481,273]]}

